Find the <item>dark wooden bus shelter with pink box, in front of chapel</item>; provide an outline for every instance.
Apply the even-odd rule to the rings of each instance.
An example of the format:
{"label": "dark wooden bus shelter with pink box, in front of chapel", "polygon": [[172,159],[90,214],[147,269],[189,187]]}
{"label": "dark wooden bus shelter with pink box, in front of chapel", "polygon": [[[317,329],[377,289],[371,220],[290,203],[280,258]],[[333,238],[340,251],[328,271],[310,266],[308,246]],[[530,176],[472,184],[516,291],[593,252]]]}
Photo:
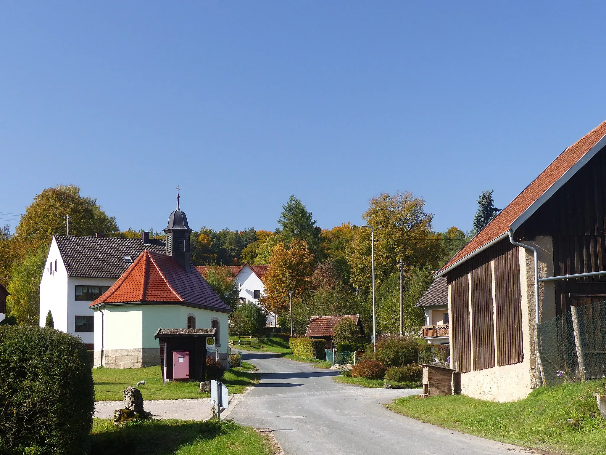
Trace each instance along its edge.
{"label": "dark wooden bus shelter with pink box, in front of chapel", "polygon": [[[155,338],[160,341],[160,365],[162,380],[190,380],[202,382],[206,369],[206,340],[215,336],[215,329],[163,329],[159,328]],[[184,377],[175,377],[178,362],[187,362]]]}

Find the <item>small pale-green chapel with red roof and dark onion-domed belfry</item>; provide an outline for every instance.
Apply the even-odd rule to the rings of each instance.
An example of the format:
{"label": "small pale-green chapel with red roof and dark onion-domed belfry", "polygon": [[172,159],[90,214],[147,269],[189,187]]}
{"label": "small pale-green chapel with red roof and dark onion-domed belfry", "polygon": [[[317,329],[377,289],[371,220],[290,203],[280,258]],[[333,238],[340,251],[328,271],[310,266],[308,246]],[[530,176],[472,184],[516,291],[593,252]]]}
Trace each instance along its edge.
{"label": "small pale-green chapel with red roof and dark onion-domed belfry", "polygon": [[165,254],[143,251],[107,292],[90,303],[95,312],[95,366],[160,365],[155,337],[159,328],[215,329],[216,355],[227,362],[231,308],[191,264],[192,231],[178,202],[164,232]]}

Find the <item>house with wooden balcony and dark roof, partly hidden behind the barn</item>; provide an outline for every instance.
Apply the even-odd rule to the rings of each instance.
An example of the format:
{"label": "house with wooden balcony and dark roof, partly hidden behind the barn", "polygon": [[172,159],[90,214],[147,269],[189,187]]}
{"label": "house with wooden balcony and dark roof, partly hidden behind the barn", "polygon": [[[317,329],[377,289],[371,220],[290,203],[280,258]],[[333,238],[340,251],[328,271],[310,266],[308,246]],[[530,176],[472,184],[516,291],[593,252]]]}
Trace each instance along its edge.
{"label": "house with wooden balcony and dark roof, partly hidden behind the barn", "polygon": [[421,295],[415,306],[425,312],[423,338],[435,345],[450,344],[448,332],[448,283],[445,277],[436,278]]}

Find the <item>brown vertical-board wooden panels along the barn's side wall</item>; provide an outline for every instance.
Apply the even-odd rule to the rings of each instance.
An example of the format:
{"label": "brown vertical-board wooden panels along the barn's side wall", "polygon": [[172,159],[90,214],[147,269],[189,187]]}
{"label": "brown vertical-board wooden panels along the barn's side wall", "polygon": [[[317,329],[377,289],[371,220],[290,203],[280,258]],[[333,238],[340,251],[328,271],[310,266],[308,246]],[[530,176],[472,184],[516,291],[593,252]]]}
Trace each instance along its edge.
{"label": "brown vertical-board wooden panels along the barn's side wall", "polygon": [[505,239],[448,273],[456,371],[524,360],[518,254]]}

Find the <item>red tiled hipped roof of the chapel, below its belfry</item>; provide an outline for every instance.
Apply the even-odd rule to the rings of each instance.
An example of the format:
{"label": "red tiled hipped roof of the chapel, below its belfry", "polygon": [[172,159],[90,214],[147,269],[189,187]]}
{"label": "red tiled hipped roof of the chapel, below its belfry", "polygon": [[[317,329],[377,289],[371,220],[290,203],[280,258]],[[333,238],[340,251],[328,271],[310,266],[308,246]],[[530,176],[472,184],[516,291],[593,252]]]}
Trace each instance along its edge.
{"label": "red tiled hipped roof of the chapel, below its belfry", "polygon": [[198,271],[188,274],[172,257],[147,250],[90,306],[130,302],[182,303],[213,311],[231,311]]}

